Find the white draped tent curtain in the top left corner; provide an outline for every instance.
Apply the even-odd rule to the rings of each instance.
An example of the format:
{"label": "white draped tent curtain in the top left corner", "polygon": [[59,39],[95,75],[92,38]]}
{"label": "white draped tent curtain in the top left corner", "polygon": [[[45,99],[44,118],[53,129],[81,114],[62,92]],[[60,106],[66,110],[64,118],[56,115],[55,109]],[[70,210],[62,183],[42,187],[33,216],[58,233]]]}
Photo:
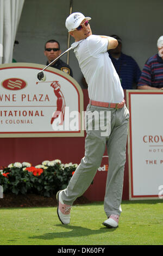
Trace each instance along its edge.
{"label": "white draped tent curtain in the top left corner", "polygon": [[0,64],[11,63],[24,0],[0,0]]}

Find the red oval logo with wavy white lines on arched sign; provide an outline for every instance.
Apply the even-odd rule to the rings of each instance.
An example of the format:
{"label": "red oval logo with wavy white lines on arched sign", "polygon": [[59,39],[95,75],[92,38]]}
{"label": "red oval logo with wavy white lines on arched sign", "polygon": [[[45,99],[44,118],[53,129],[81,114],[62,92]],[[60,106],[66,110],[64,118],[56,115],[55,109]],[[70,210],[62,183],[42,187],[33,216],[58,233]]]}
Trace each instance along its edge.
{"label": "red oval logo with wavy white lines on arched sign", "polygon": [[9,78],[2,82],[2,86],[8,90],[21,90],[27,86],[27,83],[20,78]]}

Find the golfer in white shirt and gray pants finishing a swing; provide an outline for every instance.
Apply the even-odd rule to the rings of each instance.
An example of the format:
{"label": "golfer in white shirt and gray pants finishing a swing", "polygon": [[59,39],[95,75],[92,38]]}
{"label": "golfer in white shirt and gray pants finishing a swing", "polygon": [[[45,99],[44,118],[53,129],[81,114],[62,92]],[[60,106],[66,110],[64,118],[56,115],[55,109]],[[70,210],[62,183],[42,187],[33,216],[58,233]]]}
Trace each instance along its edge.
{"label": "golfer in white shirt and gray pants finishing a swing", "polygon": [[[57,193],[57,213],[62,224],[70,223],[71,206],[90,186],[101,165],[106,145],[109,169],[104,197],[107,219],[103,224],[116,228],[122,211],[129,111],[125,105],[120,79],[107,52],[116,48],[118,42],[109,36],[92,35],[89,20],[90,17],[81,13],[72,13],[66,19],[66,28],[75,40],[72,47],[88,84],[90,101],[86,115],[90,117],[92,114],[96,127],[99,121],[103,125],[99,125],[99,129],[95,126],[92,126],[94,129],[89,129],[90,118],[86,119],[85,156],[67,188]],[[96,212],[92,212],[92,215],[96,215]]]}

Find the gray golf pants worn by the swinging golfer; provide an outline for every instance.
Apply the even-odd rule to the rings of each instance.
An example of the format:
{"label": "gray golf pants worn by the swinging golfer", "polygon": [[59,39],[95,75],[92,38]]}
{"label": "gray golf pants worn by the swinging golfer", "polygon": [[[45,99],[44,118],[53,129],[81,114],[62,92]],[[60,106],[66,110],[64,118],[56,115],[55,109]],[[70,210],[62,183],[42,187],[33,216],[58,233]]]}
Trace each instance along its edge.
{"label": "gray golf pants worn by the swinging golfer", "polygon": [[[104,211],[107,217],[111,214],[121,214],[121,200],[123,191],[124,164],[126,162],[126,144],[128,133],[129,111],[126,105],[123,108],[103,108],[88,105],[86,112],[110,112],[109,129],[106,136],[103,130],[86,130],[85,156],[73,174],[67,188],[62,191],[62,200],[67,205],[72,205],[77,197],[90,186],[97,169],[101,165],[102,157],[107,147],[109,168],[106,179]],[[106,120],[105,120],[106,123]],[[87,124],[87,123],[86,123]],[[109,130],[108,129],[108,130]]]}

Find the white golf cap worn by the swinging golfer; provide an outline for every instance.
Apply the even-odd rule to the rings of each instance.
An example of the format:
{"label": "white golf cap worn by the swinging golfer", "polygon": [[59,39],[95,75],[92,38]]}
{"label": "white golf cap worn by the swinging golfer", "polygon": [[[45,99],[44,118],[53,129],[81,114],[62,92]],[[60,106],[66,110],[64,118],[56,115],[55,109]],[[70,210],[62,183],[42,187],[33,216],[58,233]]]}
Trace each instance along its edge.
{"label": "white golf cap worn by the swinging golfer", "polygon": [[68,32],[73,31],[75,28],[79,27],[83,20],[91,20],[91,17],[85,17],[82,13],[72,13],[66,19],[66,28]]}

